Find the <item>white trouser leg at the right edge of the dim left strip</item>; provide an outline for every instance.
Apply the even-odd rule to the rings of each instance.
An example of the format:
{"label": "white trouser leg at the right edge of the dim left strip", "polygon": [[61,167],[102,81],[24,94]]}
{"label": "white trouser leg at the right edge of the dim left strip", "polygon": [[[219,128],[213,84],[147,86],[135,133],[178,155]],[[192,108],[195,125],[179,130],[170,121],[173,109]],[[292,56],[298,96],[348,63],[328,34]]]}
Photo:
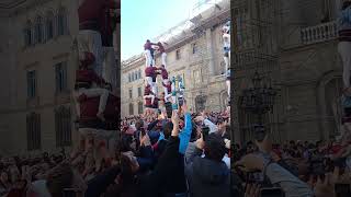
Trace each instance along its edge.
{"label": "white trouser leg at the right edge of the dim left strip", "polygon": [[113,47],[103,47],[102,78],[112,84],[114,90],[117,86],[117,65]]}

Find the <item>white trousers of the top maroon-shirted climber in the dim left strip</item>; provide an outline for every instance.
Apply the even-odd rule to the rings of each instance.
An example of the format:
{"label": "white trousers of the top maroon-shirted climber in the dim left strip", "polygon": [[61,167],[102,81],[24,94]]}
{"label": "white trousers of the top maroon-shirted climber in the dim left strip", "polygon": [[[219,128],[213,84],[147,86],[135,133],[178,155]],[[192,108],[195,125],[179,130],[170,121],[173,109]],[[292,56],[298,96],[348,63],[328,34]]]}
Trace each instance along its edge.
{"label": "white trousers of the top maroon-shirted climber in the dim left strip", "polygon": [[97,31],[83,30],[78,34],[79,59],[84,59],[84,53],[92,53],[95,56],[93,69],[102,77],[102,42],[101,34]]}

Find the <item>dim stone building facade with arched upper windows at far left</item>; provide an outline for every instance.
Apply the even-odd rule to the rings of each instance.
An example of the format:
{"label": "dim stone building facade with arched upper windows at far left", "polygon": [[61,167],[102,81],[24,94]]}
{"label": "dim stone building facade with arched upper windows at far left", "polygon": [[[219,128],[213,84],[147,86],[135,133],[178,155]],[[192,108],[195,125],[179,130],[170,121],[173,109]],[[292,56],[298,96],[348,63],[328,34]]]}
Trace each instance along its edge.
{"label": "dim stone building facade with arched upper windows at far left", "polygon": [[77,138],[77,9],[78,0],[1,1],[0,154],[55,151]]}

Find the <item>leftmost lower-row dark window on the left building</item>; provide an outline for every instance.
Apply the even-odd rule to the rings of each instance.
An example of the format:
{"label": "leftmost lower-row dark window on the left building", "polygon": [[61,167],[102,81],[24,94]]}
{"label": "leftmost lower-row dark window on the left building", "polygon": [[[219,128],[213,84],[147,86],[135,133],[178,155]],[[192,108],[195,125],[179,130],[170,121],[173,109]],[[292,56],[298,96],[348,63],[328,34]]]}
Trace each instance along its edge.
{"label": "leftmost lower-row dark window on the left building", "polygon": [[42,148],[39,114],[31,113],[26,116],[26,142],[29,151]]}

